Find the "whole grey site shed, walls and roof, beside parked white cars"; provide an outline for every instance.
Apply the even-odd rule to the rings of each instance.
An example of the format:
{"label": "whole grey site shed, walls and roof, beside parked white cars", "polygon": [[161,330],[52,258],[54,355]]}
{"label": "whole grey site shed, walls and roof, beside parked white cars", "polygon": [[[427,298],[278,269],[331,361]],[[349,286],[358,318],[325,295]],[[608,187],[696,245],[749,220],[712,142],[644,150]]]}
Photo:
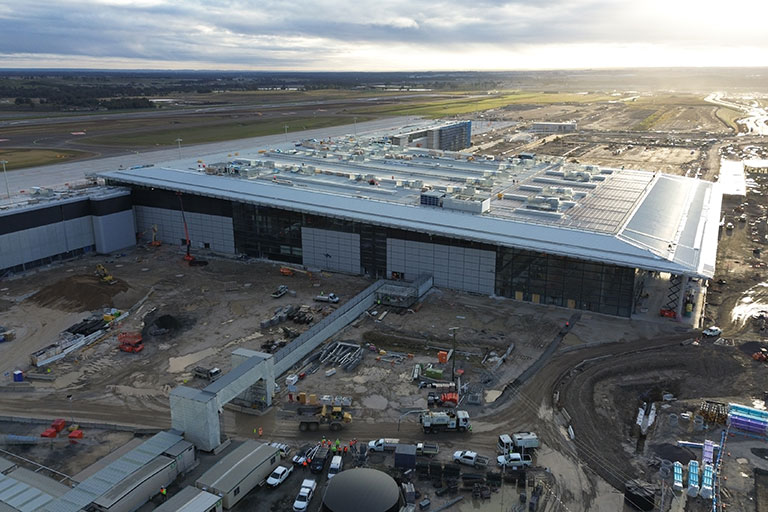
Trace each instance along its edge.
{"label": "whole grey site shed, walls and roof, beside parked white cars", "polygon": [[262,485],[279,461],[280,451],[274,446],[246,441],[206,471],[195,487],[220,495],[224,508],[230,509]]}

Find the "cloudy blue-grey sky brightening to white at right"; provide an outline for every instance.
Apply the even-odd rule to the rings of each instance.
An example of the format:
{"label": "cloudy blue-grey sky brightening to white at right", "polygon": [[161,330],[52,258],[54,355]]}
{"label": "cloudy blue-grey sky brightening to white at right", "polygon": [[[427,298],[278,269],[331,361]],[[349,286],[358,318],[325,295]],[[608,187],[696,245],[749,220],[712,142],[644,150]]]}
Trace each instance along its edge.
{"label": "cloudy blue-grey sky brightening to white at right", "polygon": [[768,0],[0,0],[0,67],[767,66]]}

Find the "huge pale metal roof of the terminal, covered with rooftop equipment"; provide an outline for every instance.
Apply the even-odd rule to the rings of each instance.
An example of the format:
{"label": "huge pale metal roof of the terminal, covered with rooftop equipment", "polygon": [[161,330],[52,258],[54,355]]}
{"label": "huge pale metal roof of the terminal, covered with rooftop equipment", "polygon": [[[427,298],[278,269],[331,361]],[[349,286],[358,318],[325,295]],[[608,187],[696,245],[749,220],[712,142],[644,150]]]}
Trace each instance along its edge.
{"label": "huge pale metal roof of the terminal, covered with rooftop equipment", "polygon": [[[623,266],[713,275],[722,200],[716,184],[561,161],[468,162],[458,154],[449,158],[423,151],[360,151],[270,152],[254,156],[255,166],[227,167],[225,172],[236,172],[237,177],[170,166],[100,176],[115,184]],[[419,197],[425,190],[445,191],[460,200],[470,197],[462,204],[490,199],[490,208],[481,214],[447,203],[442,208],[424,206]]]}

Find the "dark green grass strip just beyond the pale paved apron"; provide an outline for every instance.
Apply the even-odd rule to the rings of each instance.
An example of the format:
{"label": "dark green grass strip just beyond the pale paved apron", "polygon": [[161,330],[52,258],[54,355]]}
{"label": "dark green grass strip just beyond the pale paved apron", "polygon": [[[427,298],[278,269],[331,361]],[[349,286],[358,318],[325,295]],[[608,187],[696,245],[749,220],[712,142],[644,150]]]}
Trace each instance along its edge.
{"label": "dark green grass strip just beyond the pale paved apron", "polygon": [[[370,121],[375,117],[358,117],[359,122]],[[349,124],[348,117],[298,117],[259,119],[237,124],[215,126],[176,127],[129,133],[125,135],[100,135],[82,139],[83,142],[104,146],[173,146],[175,140],[181,138],[184,144],[201,144],[204,142],[221,142],[225,140],[261,137],[283,133],[285,126],[289,132],[311,130]]]}

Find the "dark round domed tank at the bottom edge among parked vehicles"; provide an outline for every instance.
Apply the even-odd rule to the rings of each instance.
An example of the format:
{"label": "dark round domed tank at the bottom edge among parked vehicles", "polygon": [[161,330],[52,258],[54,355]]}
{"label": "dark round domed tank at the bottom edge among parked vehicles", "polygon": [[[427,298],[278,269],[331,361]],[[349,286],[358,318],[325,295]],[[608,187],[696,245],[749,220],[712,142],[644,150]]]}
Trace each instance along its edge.
{"label": "dark round domed tank at the bottom edge among parked vehicles", "polygon": [[328,483],[323,512],[398,512],[400,488],[388,474],[369,468],[348,469]]}

